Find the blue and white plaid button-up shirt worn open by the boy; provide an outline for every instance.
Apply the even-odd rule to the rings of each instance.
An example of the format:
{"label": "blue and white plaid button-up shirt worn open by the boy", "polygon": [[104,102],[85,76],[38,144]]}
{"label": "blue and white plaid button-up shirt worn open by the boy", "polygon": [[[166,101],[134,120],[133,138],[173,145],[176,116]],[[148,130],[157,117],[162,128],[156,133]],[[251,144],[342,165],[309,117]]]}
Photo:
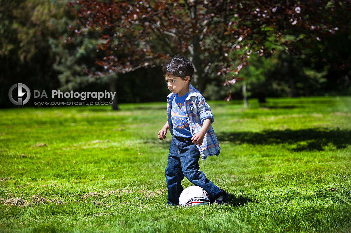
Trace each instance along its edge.
{"label": "blue and white plaid button-up shirt worn open by the boy", "polygon": [[[172,100],[176,96],[176,94],[169,94],[167,96],[167,117],[168,117],[168,127],[170,129],[170,133],[173,136],[173,125],[172,125]],[[196,90],[191,84],[189,84],[189,94],[185,99],[185,110],[186,110],[186,118],[188,120],[190,126],[190,132],[192,135],[197,134],[202,128],[203,122],[206,119],[211,119],[211,124],[213,123],[213,115],[211,112],[210,106],[206,103],[205,98],[202,94]],[[218,144],[218,140],[216,134],[214,134],[212,125],[207,130],[207,133],[204,136],[204,142],[198,146],[197,148],[201,154],[201,160],[207,158],[208,155],[216,155],[218,156],[220,153],[220,147]]]}

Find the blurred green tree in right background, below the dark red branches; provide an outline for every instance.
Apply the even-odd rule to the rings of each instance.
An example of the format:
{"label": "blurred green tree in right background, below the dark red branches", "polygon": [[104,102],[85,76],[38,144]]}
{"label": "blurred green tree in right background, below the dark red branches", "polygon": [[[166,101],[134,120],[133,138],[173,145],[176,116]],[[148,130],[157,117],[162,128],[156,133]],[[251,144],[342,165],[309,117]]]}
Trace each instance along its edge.
{"label": "blurred green tree in right background, below the dark red branches", "polygon": [[244,81],[231,90],[234,96],[241,96],[243,92],[244,100],[246,95],[258,98],[260,103],[265,103],[268,96],[310,96],[327,81],[326,73],[324,69],[311,69],[299,57],[290,56],[284,50],[275,51],[267,58],[252,55],[250,65],[241,71]]}

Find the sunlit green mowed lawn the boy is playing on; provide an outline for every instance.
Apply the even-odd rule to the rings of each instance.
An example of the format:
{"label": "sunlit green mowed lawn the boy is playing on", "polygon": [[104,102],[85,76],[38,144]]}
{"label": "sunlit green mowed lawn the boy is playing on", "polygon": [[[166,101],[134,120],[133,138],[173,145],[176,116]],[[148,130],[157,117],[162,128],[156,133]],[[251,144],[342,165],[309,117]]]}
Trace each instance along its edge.
{"label": "sunlit green mowed lawn the boy is playing on", "polygon": [[166,205],[166,102],[0,110],[0,232],[351,231],[351,97],[209,104],[200,168],[230,196],[189,208]]}

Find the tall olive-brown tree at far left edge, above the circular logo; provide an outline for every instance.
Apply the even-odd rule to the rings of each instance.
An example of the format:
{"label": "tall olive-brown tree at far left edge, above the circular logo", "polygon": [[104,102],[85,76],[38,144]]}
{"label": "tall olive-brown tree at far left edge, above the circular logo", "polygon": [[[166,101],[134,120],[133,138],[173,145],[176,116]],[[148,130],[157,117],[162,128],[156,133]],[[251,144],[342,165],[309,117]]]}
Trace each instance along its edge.
{"label": "tall olive-brown tree at far left edge, above the circular logo", "polygon": [[[44,0],[4,0],[0,4],[0,106],[13,107],[8,90],[25,83],[31,90],[58,85],[52,68],[50,38],[59,37],[51,22],[58,4]],[[28,106],[29,104],[27,104]]]}

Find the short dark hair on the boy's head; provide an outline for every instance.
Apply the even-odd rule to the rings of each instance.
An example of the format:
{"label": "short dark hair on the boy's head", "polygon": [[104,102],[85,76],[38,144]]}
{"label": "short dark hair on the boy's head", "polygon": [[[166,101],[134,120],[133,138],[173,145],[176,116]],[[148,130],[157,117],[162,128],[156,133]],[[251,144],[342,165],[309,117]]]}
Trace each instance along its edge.
{"label": "short dark hair on the boy's head", "polygon": [[190,77],[189,82],[193,79],[194,67],[190,61],[177,54],[173,59],[163,68],[163,76],[173,75],[180,77],[183,80],[186,76]]}

